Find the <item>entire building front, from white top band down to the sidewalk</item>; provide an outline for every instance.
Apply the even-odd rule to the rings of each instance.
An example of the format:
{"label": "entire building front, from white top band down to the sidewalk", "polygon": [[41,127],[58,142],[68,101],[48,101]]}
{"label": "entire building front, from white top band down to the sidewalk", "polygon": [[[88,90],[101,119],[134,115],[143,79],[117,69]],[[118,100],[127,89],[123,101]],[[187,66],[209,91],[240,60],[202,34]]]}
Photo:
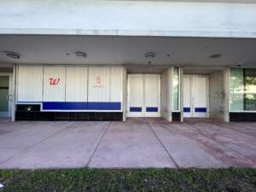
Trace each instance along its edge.
{"label": "entire building front, from white top band down to the sidewalk", "polygon": [[255,10],[253,0],[1,2],[0,117],[255,121]]}

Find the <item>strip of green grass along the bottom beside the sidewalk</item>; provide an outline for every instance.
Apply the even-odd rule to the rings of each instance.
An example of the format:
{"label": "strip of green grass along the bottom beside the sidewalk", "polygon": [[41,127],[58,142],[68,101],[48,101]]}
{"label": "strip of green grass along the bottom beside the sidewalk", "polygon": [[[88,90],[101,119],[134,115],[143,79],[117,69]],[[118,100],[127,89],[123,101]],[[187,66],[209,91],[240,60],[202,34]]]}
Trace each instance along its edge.
{"label": "strip of green grass along the bottom beside the sidewalk", "polygon": [[256,169],[0,170],[0,192],[255,192]]}

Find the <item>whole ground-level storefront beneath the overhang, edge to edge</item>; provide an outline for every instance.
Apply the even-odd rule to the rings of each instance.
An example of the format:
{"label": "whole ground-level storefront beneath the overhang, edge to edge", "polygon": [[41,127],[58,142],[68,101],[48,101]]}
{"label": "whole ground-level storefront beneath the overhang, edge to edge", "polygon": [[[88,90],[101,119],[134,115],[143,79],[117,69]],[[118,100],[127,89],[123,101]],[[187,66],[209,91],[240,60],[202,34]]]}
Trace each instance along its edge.
{"label": "whole ground-level storefront beneath the overhang, edge to edge", "polygon": [[256,69],[189,72],[186,67],[131,73],[126,67],[20,64],[0,74],[0,115],[15,120],[255,121]]}

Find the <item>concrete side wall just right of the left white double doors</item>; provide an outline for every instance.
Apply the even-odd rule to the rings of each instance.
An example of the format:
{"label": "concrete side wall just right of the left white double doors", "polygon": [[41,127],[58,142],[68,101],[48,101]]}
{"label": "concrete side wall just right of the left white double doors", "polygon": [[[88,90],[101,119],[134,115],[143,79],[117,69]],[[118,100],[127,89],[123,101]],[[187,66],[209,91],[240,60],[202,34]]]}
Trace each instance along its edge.
{"label": "concrete side wall just right of the left white double doors", "polygon": [[172,68],[166,69],[160,78],[161,117],[172,121]]}

